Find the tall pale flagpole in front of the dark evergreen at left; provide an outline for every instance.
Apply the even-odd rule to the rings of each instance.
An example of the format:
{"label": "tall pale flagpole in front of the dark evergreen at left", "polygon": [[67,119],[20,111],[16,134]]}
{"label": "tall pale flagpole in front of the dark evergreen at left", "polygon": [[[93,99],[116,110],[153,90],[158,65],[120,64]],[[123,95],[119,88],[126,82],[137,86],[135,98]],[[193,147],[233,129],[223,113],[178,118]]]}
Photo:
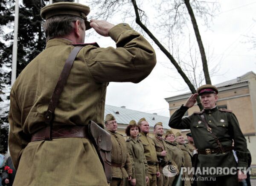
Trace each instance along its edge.
{"label": "tall pale flagpole in front of the dark evergreen at left", "polygon": [[15,82],[16,70],[17,70],[18,22],[19,22],[19,0],[15,0],[14,37],[13,37],[13,46],[12,46],[12,78],[11,78],[11,86]]}

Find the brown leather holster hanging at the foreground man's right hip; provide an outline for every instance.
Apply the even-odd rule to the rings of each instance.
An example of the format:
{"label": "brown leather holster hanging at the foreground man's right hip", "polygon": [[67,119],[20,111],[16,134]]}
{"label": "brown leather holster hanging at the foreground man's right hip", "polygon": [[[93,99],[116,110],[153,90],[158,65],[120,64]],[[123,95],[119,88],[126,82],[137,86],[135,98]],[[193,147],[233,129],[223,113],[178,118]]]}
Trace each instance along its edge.
{"label": "brown leather holster hanging at the foreground man's right hip", "polygon": [[89,121],[88,132],[90,139],[99,155],[99,159],[104,167],[105,175],[108,183],[112,180],[112,168],[111,168],[111,136],[102,129],[94,121]]}

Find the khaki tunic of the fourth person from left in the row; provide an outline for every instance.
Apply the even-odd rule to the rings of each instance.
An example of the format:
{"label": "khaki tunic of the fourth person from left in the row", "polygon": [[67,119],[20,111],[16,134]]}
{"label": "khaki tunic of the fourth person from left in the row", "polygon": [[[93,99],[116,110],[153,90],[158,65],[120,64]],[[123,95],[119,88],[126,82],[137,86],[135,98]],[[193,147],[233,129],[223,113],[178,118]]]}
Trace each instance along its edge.
{"label": "khaki tunic of the fourth person from left in the row", "polygon": [[[163,167],[172,162],[172,152],[167,149],[166,142],[161,137],[155,136],[153,140],[154,140],[155,148],[157,151],[159,171],[161,173],[160,177],[157,179],[157,186],[168,186],[170,180],[169,180],[169,177],[163,174]],[[161,152],[163,150],[166,150],[167,152],[166,156],[161,156]],[[164,163],[161,163],[160,158],[164,161]]]}

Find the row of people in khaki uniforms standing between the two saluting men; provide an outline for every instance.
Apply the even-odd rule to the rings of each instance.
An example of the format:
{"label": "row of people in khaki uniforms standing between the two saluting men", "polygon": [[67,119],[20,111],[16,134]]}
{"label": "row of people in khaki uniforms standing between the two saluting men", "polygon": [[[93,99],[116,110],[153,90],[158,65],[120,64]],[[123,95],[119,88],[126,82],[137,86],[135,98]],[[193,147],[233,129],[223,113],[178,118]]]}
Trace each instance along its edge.
{"label": "row of people in khaki uniforms standing between the two saluting men", "polygon": [[[124,137],[116,132],[118,126],[112,114],[106,115],[105,127],[112,142],[111,186],[172,186],[181,166],[192,167],[195,146],[191,133],[187,134],[188,144],[185,144],[180,132],[175,135],[172,130],[167,130],[164,135],[163,124],[158,122],[154,125],[155,136],[151,138],[148,121],[141,118],[138,123],[130,121],[125,130],[129,137],[125,143]],[[170,166],[176,169],[176,175],[168,174]],[[187,173],[183,176],[192,177]],[[191,183],[192,180],[185,180],[185,186]]]}

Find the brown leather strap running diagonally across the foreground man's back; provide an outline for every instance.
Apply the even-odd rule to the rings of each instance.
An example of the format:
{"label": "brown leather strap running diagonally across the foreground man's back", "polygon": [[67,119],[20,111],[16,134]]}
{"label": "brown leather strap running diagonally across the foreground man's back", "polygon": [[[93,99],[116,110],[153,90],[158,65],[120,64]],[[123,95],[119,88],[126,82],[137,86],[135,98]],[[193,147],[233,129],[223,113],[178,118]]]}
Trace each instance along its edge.
{"label": "brown leather strap running diagonally across the foreground man's back", "polygon": [[52,94],[52,98],[49,102],[47,113],[44,116],[45,123],[46,123],[44,140],[52,140],[52,138],[51,138],[51,128],[52,128],[52,121],[53,121],[53,118],[54,118],[54,111],[55,111],[55,108],[58,105],[58,99],[61,96],[64,85],[67,82],[67,77],[70,73],[73,62],[76,59],[76,55],[79,53],[81,48],[83,48],[83,47],[82,46],[77,46],[77,47],[73,48],[73,50],[71,51],[70,55],[68,56],[68,58],[66,60],[64,68],[61,71],[61,75],[59,76],[57,85],[56,85],[55,90]]}

